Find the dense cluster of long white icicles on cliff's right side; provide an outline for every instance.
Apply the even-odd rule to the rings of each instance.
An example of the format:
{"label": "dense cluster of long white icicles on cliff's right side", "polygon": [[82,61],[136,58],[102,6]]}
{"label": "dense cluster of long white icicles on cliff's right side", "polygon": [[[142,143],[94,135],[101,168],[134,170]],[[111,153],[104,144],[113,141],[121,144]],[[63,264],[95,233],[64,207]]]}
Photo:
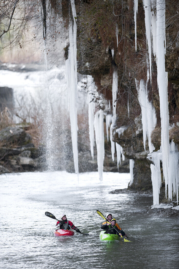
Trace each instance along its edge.
{"label": "dense cluster of long white icicles on cliff's right side", "polygon": [[[169,143],[169,107],[168,107],[168,79],[165,72],[165,54],[166,54],[166,36],[165,36],[165,0],[143,0],[145,11],[145,28],[146,41],[149,53],[149,63],[147,60],[147,82],[141,79],[136,80],[136,89],[138,91],[138,100],[142,111],[142,128],[143,143],[145,150],[145,142],[148,138],[149,154],[148,158],[153,162],[150,165],[151,179],[153,186],[153,205],[159,204],[159,193],[161,187],[160,161],[162,161],[163,179],[165,181],[165,191],[167,197],[172,199],[173,195],[177,196],[178,203],[178,187],[179,187],[179,168],[178,168],[178,147],[172,141]],[[156,10],[156,11],[152,11]],[[137,33],[136,33],[136,13],[138,11],[138,0],[134,0],[134,21],[135,21],[135,49],[137,49]],[[152,42],[151,42],[152,40]],[[147,84],[150,78],[152,83],[152,60],[151,54],[156,57],[157,65],[157,84],[160,98],[160,118],[161,118],[161,147],[157,152],[151,143],[151,132],[156,126],[155,108],[148,100]]]}

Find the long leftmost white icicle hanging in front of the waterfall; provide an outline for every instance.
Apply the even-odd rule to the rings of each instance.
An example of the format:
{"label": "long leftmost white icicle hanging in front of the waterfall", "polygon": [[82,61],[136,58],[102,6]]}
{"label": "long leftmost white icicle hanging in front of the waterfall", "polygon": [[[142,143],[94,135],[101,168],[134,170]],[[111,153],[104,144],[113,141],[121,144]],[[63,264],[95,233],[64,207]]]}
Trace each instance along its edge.
{"label": "long leftmost white icicle hanging in front of the waterfall", "polygon": [[77,109],[76,109],[76,94],[77,94],[77,62],[76,62],[76,10],[75,1],[71,0],[73,27],[72,22],[69,22],[69,49],[68,59],[65,61],[67,89],[69,97],[69,114],[72,136],[72,149],[75,173],[78,174],[78,124],[77,124]]}

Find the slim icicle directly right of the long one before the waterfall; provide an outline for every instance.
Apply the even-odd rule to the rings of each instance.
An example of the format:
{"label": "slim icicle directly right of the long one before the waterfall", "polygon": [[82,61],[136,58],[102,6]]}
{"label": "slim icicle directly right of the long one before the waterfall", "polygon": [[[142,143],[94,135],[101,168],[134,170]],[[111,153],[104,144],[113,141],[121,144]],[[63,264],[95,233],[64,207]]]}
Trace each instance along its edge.
{"label": "slim icicle directly right of the long one before the waterfall", "polygon": [[88,122],[89,122],[89,138],[90,138],[90,149],[91,155],[94,159],[94,102],[93,95],[94,92],[94,80],[92,76],[87,76],[88,81]]}

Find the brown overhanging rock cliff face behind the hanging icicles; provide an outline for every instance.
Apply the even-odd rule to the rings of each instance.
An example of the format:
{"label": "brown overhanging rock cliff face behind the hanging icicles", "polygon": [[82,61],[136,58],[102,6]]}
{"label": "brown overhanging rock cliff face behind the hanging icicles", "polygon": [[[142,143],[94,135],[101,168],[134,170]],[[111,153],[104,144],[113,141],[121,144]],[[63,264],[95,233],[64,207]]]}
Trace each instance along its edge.
{"label": "brown overhanging rock cliff face behind the hanging icicles", "polygon": [[[65,1],[62,1],[65,3]],[[67,3],[67,2],[66,2]],[[143,147],[141,108],[138,101],[135,79],[147,81],[149,55],[146,46],[145,15],[142,1],[138,1],[137,51],[135,51],[134,2],[124,1],[75,1],[77,11],[77,60],[78,72],[92,75],[98,91],[112,104],[112,73],[118,74],[117,119],[113,128],[113,141],[124,148],[125,157],[135,160],[134,189],[150,189],[150,163]],[[176,8],[178,1],[166,1],[166,71],[168,72],[168,100],[171,139],[178,143],[179,128],[179,83],[178,51],[179,32]],[[177,17],[177,19],[176,19]],[[114,51],[114,57],[112,52]],[[152,83],[147,85],[149,101],[156,111],[157,124],[152,133],[155,150],[160,147],[160,104],[157,89],[157,69],[152,54]],[[112,107],[111,107],[112,108]],[[125,126],[118,135],[116,129]]]}

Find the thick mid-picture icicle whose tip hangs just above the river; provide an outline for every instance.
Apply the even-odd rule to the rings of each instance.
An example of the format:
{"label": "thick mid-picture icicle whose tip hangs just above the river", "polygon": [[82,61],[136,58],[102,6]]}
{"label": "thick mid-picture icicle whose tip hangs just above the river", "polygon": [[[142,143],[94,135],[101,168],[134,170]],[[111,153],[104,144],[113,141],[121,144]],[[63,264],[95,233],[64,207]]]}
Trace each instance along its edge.
{"label": "thick mid-picture icicle whose tip hangs just above the river", "polygon": [[103,180],[104,163],[104,112],[100,109],[94,116],[94,130],[97,148],[97,164],[100,181]]}

